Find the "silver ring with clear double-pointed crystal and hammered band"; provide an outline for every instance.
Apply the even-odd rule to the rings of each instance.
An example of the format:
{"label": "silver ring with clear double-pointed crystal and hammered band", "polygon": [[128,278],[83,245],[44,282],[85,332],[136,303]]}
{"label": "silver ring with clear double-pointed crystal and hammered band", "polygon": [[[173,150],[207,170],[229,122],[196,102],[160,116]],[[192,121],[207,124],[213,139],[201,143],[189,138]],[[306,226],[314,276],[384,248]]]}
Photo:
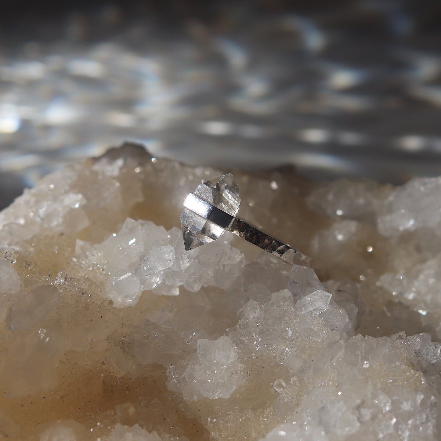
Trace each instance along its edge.
{"label": "silver ring with clear double-pointed crystal and hammered band", "polygon": [[311,263],[310,257],[235,216],[240,207],[239,185],[231,173],[198,185],[188,193],[183,206],[181,226],[187,251],[230,231],[291,264]]}

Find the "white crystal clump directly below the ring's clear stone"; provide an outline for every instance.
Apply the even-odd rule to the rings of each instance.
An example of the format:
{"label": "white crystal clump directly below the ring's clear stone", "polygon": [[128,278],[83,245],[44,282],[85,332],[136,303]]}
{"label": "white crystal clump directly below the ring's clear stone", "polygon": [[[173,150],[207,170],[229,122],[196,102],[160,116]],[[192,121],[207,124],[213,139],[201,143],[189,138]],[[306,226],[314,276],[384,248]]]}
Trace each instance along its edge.
{"label": "white crystal clump directly below the ring's clear stone", "polygon": [[109,274],[104,296],[124,307],[138,302],[142,290],[177,295],[179,286],[194,292],[207,285],[228,287],[243,260],[229,239],[213,244],[211,253],[187,252],[178,228],[167,231],[153,222],[128,218],[100,244],[77,241],[76,249],[84,262]]}

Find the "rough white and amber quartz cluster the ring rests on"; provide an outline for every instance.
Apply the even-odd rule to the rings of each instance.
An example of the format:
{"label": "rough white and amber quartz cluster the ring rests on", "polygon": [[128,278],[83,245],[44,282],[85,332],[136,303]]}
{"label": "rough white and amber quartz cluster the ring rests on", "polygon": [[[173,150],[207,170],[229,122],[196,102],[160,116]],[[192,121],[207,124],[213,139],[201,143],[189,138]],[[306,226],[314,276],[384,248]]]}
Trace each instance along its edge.
{"label": "rough white and amber quartz cluster the ring rests on", "polygon": [[440,439],[441,179],[235,171],[306,268],[185,251],[182,201],[224,173],[125,145],[0,214],[0,439]]}

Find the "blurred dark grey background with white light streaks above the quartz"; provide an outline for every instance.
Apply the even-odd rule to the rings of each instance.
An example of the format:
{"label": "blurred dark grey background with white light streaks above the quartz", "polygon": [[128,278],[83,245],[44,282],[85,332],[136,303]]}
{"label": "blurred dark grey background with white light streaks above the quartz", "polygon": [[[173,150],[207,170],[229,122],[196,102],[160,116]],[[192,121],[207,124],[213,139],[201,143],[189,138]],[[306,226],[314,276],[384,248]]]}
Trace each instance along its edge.
{"label": "blurred dark grey background with white light streaks above the quartz", "polygon": [[123,140],[314,179],[441,174],[440,80],[439,0],[3,2],[0,206]]}

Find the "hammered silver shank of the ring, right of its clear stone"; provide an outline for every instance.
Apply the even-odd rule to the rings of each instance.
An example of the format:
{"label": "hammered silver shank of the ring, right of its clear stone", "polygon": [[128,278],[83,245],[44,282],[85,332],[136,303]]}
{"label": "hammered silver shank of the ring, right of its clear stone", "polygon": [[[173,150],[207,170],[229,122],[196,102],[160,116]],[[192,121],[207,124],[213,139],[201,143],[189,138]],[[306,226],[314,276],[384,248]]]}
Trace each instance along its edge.
{"label": "hammered silver shank of the ring, right of its clear stone", "polygon": [[290,264],[303,266],[309,266],[311,264],[312,259],[310,257],[300,253],[283,242],[274,239],[274,237],[263,233],[261,230],[242,219],[235,218],[228,231],[236,236],[242,237],[253,245],[257,245],[268,253],[277,255]]}

